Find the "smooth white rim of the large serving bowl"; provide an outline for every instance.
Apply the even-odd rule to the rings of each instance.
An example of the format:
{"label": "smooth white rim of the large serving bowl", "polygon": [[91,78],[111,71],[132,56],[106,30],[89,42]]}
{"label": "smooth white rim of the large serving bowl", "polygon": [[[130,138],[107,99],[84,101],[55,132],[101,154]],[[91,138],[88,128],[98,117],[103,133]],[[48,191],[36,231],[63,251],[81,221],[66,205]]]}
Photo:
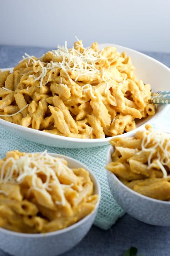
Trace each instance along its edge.
{"label": "smooth white rim of the large serving bowl", "polygon": [[[144,53],[141,53],[141,52],[138,52],[134,49],[131,49],[131,48],[128,48],[128,47],[125,47],[125,46],[122,46],[122,45],[117,45],[117,44],[110,44],[110,43],[103,43],[103,44],[99,44],[99,47],[100,46],[114,46],[114,47],[123,47],[125,50],[130,50],[134,53],[137,53],[139,55],[142,55],[142,56],[145,56],[145,58],[148,58],[148,59],[151,59],[153,62],[155,63],[158,63],[160,66],[164,67],[167,71],[170,72],[170,68],[167,67],[166,65],[164,65],[163,63],[159,62],[158,60],[144,54]],[[105,47],[104,46],[104,47]],[[11,68],[2,68],[2,69],[5,69],[5,70],[8,70],[8,69],[13,69],[13,67]],[[157,115],[159,115],[160,113],[164,113],[164,111],[166,111],[167,109],[169,108],[169,105],[164,105],[164,108],[156,113],[155,115],[153,115],[148,121],[146,121],[146,123],[142,124],[141,126],[135,128],[134,130],[130,131],[130,132],[127,132],[126,134],[133,134],[135,131],[137,131],[140,127],[142,127],[143,125],[153,121]],[[48,133],[48,132],[43,132],[43,131],[39,131],[39,130],[35,130],[35,129],[32,129],[32,128],[29,128],[29,127],[25,127],[25,126],[22,126],[22,125],[19,125],[19,124],[15,124],[15,123],[11,123],[9,121],[6,121],[6,120],[3,120],[0,118],[0,123],[3,124],[3,125],[7,125],[7,126],[11,126],[13,127],[14,129],[16,128],[17,130],[21,130],[21,131],[25,131],[25,132],[30,132],[30,129],[32,131],[32,133],[34,134],[42,134],[43,136],[46,136],[46,137],[51,137],[51,138],[58,138],[60,140],[63,140],[63,141],[70,141],[70,142],[81,142],[81,143],[94,143],[94,142],[97,142],[97,143],[105,143],[105,142],[108,142],[109,140],[111,140],[112,138],[116,137],[116,136],[112,136],[112,137],[106,137],[106,138],[93,138],[93,139],[90,139],[90,138],[72,138],[72,137],[66,137],[66,136],[62,136],[62,135],[57,135],[57,134],[52,134],[52,133]],[[121,136],[124,136],[125,133],[123,134],[120,134],[120,135],[117,135],[119,137]],[[97,147],[97,145],[96,145]]]}

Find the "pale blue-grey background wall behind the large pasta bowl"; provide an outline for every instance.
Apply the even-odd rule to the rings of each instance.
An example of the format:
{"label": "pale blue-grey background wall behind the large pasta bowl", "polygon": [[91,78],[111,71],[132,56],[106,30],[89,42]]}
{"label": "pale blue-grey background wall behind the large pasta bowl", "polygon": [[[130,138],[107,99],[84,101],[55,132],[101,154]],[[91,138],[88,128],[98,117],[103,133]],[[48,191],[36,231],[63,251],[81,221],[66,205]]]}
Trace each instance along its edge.
{"label": "pale blue-grey background wall behind the large pasta bowl", "polygon": [[115,43],[170,52],[170,0],[0,0],[0,44]]}

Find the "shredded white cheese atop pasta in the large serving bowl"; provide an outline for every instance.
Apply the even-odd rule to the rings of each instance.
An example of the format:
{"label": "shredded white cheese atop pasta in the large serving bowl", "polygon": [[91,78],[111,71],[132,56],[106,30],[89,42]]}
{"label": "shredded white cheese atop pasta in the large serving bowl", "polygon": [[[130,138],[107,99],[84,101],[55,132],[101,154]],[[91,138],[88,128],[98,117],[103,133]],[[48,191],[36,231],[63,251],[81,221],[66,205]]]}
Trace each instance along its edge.
{"label": "shredded white cheese atop pasta in the large serving bowl", "polygon": [[[106,58],[104,58],[101,55],[100,51],[93,51],[93,49],[91,48],[84,48],[83,44],[81,43],[80,40],[78,40],[78,38],[76,37],[78,43],[76,48],[81,47],[83,49],[83,52],[81,53],[81,51],[77,51],[76,48],[72,47],[72,48],[67,48],[67,42],[65,42],[64,46],[57,46],[57,50],[52,50],[50,53],[52,53],[52,55],[54,57],[57,57],[58,59],[60,59],[61,61],[59,62],[53,62],[51,61],[50,63],[43,63],[40,60],[35,60],[34,56],[30,56],[27,53],[25,53],[26,58],[23,56],[23,58],[28,59],[28,64],[30,62],[32,62],[32,64],[37,63],[40,65],[41,70],[39,71],[40,74],[38,77],[35,77],[34,75],[30,75],[30,76],[34,76],[34,81],[40,80],[40,87],[47,84],[47,82],[45,82],[45,84],[43,84],[43,78],[45,77],[45,75],[47,74],[47,70],[49,69],[54,69],[54,68],[61,68],[65,74],[67,75],[69,81],[71,84],[73,84],[72,79],[69,76],[69,72],[75,72],[78,73],[77,77],[75,78],[75,82],[78,81],[78,78],[82,75],[89,75],[89,76],[94,76],[95,74],[99,74],[101,75],[102,80],[106,83],[106,89],[105,89],[105,93],[108,90],[108,81],[111,79],[102,69],[99,70],[96,68],[96,62],[97,60],[106,60]],[[115,56],[115,59],[118,56]],[[27,63],[26,63],[27,64]],[[45,66],[46,65],[46,66]],[[29,77],[30,77],[29,76]],[[62,81],[61,81],[62,84]],[[87,85],[92,96],[95,98],[94,94],[92,93],[92,88],[91,85]]]}

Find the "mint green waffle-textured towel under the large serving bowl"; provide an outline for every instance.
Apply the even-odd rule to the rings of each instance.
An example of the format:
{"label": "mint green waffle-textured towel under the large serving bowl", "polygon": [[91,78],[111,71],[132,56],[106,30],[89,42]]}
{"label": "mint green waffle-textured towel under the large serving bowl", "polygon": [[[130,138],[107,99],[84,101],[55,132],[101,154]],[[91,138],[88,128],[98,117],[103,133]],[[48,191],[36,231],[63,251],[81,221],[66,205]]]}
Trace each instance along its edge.
{"label": "mint green waffle-textured towel under the large serving bowl", "polygon": [[[159,124],[163,125],[163,127],[160,128],[166,132],[170,131],[170,117],[168,113],[169,111],[157,121],[157,123],[159,122]],[[154,129],[159,128],[157,123],[152,124]],[[104,230],[109,229],[109,227],[111,227],[115,221],[125,213],[113,198],[107,183],[104,166],[106,165],[108,147],[109,145],[84,149],[48,147],[27,141],[22,137],[18,137],[17,135],[4,130],[4,128],[0,126],[0,158],[5,156],[6,151],[14,149],[18,149],[22,152],[42,152],[47,149],[50,153],[73,157],[87,165],[89,169],[94,172],[101,185],[102,197],[94,225]]]}

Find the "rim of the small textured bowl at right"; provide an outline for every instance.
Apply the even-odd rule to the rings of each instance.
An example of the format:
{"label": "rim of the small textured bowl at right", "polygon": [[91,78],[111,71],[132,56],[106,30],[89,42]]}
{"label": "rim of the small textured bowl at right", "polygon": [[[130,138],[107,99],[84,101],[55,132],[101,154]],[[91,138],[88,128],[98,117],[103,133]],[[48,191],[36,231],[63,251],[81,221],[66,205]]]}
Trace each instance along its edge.
{"label": "rim of the small textured bowl at right", "polygon": [[[112,146],[112,145],[110,145],[109,148],[108,148],[107,156],[108,156],[108,154],[109,154],[111,148],[113,149],[113,146]],[[107,164],[109,164],[109,163],[107,162]],[[105,169],[106,169],[106,168],[105,168]],[[127,189],[129,192],[131,192],[131,193],[134,194],[135,196],[138,196],[138,197],[140,197],[140,198],[142,198],[142,199],[144,199],[144,200],[148,200],[148,201],[155,202],[155,203],[170,204],[170,201],[163,201],[163,200],[160,200],[160,199],[155,199],[155,198],[147,197],[147,196],[144,196],[143,194],[140,194],[140,193],[134,191],[133,189],[131,189],[131,188],[127,187],[125,184],[123,184],[123,183],[116,177],[116,175],[115,175],[112,171],[109,171],[109,170],[107,170],[107,169],[106,169],[106,171],[114,176],[114,179],[120,184],[120,186],[122,186],[123,188]]]}

